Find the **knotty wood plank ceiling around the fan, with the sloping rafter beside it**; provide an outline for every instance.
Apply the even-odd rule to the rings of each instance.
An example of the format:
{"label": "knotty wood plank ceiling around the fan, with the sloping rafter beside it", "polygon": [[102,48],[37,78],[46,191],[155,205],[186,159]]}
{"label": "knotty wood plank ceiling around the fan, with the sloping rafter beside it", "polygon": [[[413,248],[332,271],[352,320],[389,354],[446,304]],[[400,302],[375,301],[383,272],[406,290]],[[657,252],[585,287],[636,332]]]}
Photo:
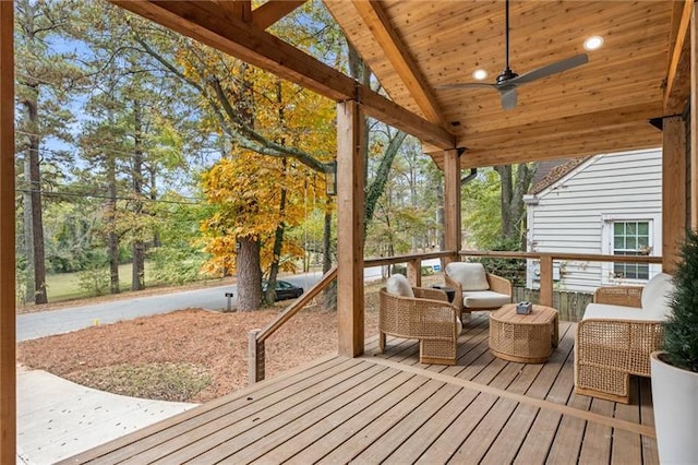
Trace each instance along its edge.
{"label": "knotty wood plank ceiling around the fan, with the sloping rafter beside it", "polygon": [[[512,1],[510,68],[519,74],[585,52],[589,36],[605,40],[588,52],[589,63],[519,87],[512,110],[503,110],[490,88],[436,88],[473,82],[479,68],[494,82],[505,59],[503,1],[325,4],[392,99],[449,124],[458,146],[467,147],[465,167],[661,145],[661,132],[647,121],[665,114],[681,2]],[[414,63],[412,79],[401,71],[406,60]],[[434,158],[441,165],[440,154]]]}

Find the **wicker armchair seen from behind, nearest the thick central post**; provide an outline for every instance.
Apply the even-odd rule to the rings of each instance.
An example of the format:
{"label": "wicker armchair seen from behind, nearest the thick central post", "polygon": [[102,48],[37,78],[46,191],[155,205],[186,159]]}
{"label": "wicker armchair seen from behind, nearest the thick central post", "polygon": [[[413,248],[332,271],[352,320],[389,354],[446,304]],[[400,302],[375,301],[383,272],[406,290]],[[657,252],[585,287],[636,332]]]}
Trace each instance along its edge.
{"label": "wicker armchair seen from behind, nearest the thick central post", "polygon": [[462,330],[458,310],[438,289],[410,287],[404,275],[390,276],[381,289],[378,345],[386,334],[419,339],[422,363],[456,365],[456,344]]}

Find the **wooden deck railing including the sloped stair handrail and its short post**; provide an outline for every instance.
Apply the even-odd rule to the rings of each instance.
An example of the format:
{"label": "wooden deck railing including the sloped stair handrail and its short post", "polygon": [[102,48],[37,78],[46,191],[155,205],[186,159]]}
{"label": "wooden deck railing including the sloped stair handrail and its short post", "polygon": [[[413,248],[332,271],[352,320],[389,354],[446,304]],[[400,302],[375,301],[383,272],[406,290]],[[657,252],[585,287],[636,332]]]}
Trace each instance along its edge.
{"label": "wooden deck railing including the sloped stair handrail and its short post", "polygon": [[[621,262],[621,263],[662,263],[661,257],[649,255],[602,255],[564,252],[509,252],[509,251],[482,251],[461,250],[440,251],[430,253],[417,253],[409,255],[396,255],[366,259],[363,266],[385,266],[398,263],[407,264],[407,277],[412,286],[419,287],[422,283],[422,261],[431,259],[458,260],[458,257],[491,257],[497,259],[533,259],[540,260],[540,303],[544,306],[553,305],[553,262],[555,260],[576,260],[586,262]],[[337,267],[333,266],[323,277],[306,293],[293,301],[264,330],[252,330],[249,334],[248,348],[248,382],[250,384],[264,380],[265,378],[265,350],[264,343],[278,329],[288,322],[294,314],[311,302],[322,293],[332,281],[337,277]]]}

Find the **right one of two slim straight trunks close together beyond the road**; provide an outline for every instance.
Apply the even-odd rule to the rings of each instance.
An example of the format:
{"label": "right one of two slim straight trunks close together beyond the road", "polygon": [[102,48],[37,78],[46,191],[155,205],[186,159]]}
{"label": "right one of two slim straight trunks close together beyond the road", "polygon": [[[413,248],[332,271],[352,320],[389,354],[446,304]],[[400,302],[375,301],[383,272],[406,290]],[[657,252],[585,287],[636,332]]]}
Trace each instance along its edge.
{"label": "right one of two slim straight trunks close together beyond the road", "polygon": [[[141,114],[141,103],[134,100],[133,121],[134,121],[134,144],[133,144],[133,211],[137,216],[143,213],[143,141],[141,140],[141,131],[143,127],[143,115]],[[131,274],[131,290],[142,290],[145,288],[145,243],[141,237],[140,228],[136,226],[133,239],[133,269]]]}

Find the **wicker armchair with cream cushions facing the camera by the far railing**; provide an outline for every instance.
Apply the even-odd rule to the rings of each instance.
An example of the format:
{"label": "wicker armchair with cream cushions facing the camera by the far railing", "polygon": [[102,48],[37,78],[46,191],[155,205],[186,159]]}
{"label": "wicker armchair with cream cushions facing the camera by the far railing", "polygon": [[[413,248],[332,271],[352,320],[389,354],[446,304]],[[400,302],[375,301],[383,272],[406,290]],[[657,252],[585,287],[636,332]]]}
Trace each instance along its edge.
{"label": "wicker armchair with cream cushions facing the camera by the far railing", "polygon": [[482,263],[448,263],[444,282],[456,289],[454,305],[461,315],[477,310],[497,310],[512,303],[512,283],[486,273]]}

